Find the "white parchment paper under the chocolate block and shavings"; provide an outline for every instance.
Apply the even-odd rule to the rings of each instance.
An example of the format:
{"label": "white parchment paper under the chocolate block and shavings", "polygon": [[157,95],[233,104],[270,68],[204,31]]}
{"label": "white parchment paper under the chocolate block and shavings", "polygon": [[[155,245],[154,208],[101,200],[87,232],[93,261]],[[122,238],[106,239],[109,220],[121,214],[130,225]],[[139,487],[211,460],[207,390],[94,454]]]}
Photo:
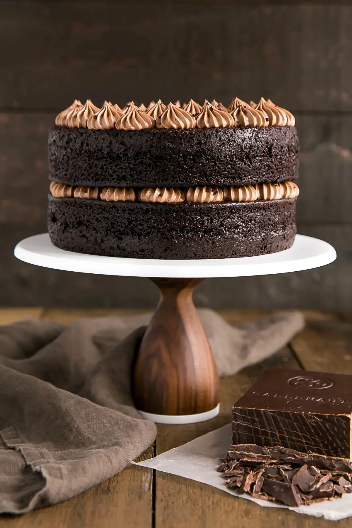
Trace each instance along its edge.
{"label": "white parchment paper under the chocolate block and shavings", "polygon": [[241,495],[233,489],[227,488],[225,479],[221,477],[220,473],[217,473],[216,468],[220,465],[219,459],[226,456],[230,444],[231,423],[215,431],[208,432],[206,435],[198,437],[183,446],[170,449],[170,451],[166,451],[155,458],[142,460],[136,465],[197,480],[197,482],[209,484],[236,497],[256,502],[260,506],[269,508],[288,507],[289,510],[297,513],[305,513],[315,517],[324,516],[330,521],[338,521],[352,515],[352,493],[345,494],[335,501],[324,501],[311,506],[293,508],[255,499],[247,493]]}

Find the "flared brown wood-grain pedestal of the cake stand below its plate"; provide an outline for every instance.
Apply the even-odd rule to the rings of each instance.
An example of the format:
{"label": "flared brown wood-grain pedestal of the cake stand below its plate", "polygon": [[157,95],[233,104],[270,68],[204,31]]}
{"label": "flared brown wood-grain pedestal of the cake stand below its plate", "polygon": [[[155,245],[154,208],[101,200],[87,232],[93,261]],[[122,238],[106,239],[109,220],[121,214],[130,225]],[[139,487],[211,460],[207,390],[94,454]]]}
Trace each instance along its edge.
{"label": "flared brown wood-grain pedestal of the cake stand below its plate", "polygon": [[[164,415],[166,420],[161,417],[157,421],[166,423],[216,416],[219,401],[216,364],[192,300],[194,287],[203,279],[151,280],[160,288],[160,301],[136,359],[136,407],[147,417]],[[205,413],[203,418],[200,413]],[[200,415],[198,419],[186,418],[194,414]]]}

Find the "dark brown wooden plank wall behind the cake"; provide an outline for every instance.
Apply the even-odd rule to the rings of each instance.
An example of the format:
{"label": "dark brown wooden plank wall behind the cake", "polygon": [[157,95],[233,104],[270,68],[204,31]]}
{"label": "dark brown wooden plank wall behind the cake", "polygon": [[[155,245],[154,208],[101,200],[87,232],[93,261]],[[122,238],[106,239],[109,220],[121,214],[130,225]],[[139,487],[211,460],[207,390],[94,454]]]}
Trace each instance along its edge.
{"label": "dark brown wooden plank wall behind the cake", "polygon": [[350,3],[0,1],[0,42],[0,305],[156,302],[147,279],[46,270],[12,256],[18,240],[46,230],[47,133],[74,98],[263,95],[297,118],[299,232],[333,243],[338,259],[295,274],[207,280],[197,302],[352,308]]}

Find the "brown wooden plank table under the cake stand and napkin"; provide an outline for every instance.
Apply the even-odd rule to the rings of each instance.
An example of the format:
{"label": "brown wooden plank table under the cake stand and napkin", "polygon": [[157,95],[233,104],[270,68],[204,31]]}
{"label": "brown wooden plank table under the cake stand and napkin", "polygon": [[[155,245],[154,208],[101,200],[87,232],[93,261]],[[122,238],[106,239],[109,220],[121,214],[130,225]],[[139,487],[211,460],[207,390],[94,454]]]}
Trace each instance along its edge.
{"label": "brown wooden plank table under the cake stand and napkin", "polygon": [[[136,310],[3,308],[0,324],[26,317],[69,323],[82,316],[127,313]],[[221,313],[231,324],[263,314],[237,310]],[[232,404],[268,367],[352,374],[352,315],[305,312],[305,316],[307,328],[288,346],[270,359],[220,381],[219,416],[182,426],[159,424],[154,446],[140,459],[156,456],[229,423]],[[211,486],[136,466],[127,467],[119,475],[64,503],[18,517],[0,516],[0,528],[320,528],[328,524],[331,522],[289,510],[262,508]],[[334,526],[351,527],[352,520],[337,521]]]}

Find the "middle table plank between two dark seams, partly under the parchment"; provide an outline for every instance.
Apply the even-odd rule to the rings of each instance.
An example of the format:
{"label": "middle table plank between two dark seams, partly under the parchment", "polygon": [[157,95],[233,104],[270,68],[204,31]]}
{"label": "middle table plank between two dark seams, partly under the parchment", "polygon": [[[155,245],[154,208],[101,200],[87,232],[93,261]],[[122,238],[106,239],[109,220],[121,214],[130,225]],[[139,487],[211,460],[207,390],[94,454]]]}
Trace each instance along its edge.
{"label": "middle table plank between two dark seams, partly under the parchment", "polygon": [[[227,313],[226,320],[230,323],[237,318],[242,318],[239,310]],[[182,426],[182,431],[177,426],[158,424],[157,454],[230,423],[233,403],[249,389],[264,369],[279,366],[299,369],[288,347],[258,365],[247,367],[229,378],[222,378],[220,380],[220,415],[213,420]],[[172,496],[172,501],[168,498],[170,496]],[[282,519],[287,519],[286,522],[291,523],[290,527],[301,526],[299,524],[301,520],[297,520],[297,515],[296,517],[290,515],[292,512],[282,510],[281,515],[280,511],[279,523],[278,512],[267,512],[267,509],[260,508],[249,501],[234,498],[220,489],[175,475],[156,472],[156,527],[213,528],[216,526],[217,528],[226,526],[228,528],[234,525],[240,528],[268,525],[277,527],[285,526],[281,524]]]}

